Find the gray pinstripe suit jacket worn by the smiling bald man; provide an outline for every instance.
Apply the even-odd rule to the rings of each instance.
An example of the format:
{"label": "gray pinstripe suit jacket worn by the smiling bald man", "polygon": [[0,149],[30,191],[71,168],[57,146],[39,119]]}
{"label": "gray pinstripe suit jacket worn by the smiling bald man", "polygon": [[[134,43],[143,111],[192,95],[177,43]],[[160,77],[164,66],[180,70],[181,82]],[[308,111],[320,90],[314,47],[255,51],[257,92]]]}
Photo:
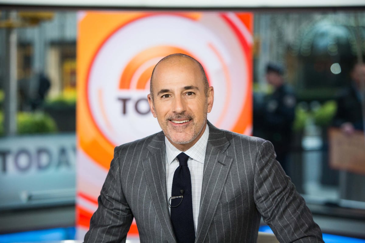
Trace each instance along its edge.
{"label": "gray pinstripe suit jacket worn by the smiling bald man", "polygon": [[[310,210],[261,138],[208,122],[196,242],[256,242],[261,216],[280,242],[323,242]],[[164,133],[115,148],[85,242],[176,242],[166,200]]]}

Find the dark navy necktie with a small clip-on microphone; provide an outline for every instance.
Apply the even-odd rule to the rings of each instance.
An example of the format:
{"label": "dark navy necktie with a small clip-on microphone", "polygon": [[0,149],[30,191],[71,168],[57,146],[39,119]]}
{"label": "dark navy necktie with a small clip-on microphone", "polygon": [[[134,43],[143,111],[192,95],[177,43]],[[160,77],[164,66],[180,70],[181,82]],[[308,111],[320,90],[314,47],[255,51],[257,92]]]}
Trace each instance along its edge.
{"label": "dark navy necktie with a small clip-on microphone", "polygon": [[[180,166],[177,167],[172,180],[171,196],[183,198],[171,199],[171,222],[178,243],[193,243],[195,229],[193,220],[193,202],[191,196],[191,177],[188,168],[188,158],[185,153],[177,156]],[[180,203],[180,204],[179,204]]]}

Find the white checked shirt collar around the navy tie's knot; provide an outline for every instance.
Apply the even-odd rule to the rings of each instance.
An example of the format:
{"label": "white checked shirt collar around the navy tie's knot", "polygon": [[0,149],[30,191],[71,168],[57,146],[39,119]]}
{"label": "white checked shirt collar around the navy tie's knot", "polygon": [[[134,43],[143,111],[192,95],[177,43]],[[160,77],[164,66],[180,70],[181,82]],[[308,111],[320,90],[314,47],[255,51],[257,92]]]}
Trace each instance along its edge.
{"label": "white checked shirt collar around the navy tie's knot", "polygon": [[[188,150],[184,153],[191,157],[193,160],[196,160],[202,164],[204,164],[205,160],[205,151],[207,150],[208,144],[208,137],[209,137],[209,128],[208,124],[205,126],[205,130],[203,135],[199,138],[199,140]],[[166,151],[166,158],[169,164],[174,161],[176,156],[180,154],[182,151],[178,150],[174,145],[170,143],[170,141],[165,136],[165,151]]]}

